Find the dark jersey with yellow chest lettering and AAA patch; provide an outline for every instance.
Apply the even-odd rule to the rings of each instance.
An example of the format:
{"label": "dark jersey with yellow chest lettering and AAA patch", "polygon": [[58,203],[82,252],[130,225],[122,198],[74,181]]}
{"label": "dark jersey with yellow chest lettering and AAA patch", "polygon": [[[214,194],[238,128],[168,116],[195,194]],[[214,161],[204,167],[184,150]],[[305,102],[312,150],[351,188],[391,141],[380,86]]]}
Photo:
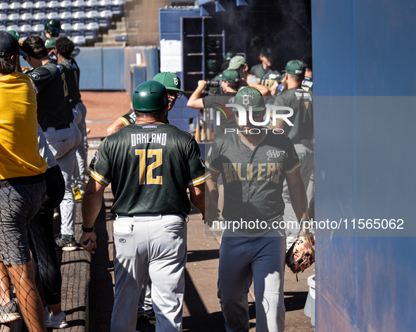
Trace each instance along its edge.
{"label": "dark jersey with yellow chest lettering and AAA patch", "polygon": [[206,166],[210,172],[222,174],[225,220],[270,222],[284,212],[285,175],[301,164],[291,140],[268,129],[252,152],[236,132],[219,135],[208,152]]}

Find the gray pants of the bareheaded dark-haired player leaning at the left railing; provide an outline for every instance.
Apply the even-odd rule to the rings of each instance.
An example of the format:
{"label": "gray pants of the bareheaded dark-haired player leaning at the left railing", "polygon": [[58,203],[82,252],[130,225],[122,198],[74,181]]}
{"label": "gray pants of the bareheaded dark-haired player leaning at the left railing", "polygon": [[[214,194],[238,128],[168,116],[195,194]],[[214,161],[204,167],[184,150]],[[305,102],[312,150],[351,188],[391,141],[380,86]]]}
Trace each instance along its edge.
{"label": "gray pants of the bareheaded dark-haired player leaning at the left railing", "polygon": [[70,123],[70,128],[55,130],[49,127],[44,132],[44,136],[49,145],[49,150],[53,153],[59,167],[61,168],[63,180],[65,181],[65,195],[60,205],[61,207],[61,234],[75,234],[75,198],[71,183],[75,170],[75,152],[81,142],[81,133],[74,122]]}

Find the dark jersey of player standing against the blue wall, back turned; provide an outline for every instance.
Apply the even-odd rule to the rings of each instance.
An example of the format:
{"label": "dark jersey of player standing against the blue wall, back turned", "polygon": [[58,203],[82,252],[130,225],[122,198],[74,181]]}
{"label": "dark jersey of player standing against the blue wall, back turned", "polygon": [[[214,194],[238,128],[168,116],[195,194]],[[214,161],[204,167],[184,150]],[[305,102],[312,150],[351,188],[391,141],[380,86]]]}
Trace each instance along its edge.
{"label": "dark jersey of player standing against the blue wall, back turned", "polygon": [[[303,88],[289,88],[276,96],[275,105],[291,107],[294,115],[289,117],[294,126],[284,123],[284,134],[288,135],[294,144],[301,140],[313,138],[313,99]],[[287,114],[286,110],[277,114]]]}

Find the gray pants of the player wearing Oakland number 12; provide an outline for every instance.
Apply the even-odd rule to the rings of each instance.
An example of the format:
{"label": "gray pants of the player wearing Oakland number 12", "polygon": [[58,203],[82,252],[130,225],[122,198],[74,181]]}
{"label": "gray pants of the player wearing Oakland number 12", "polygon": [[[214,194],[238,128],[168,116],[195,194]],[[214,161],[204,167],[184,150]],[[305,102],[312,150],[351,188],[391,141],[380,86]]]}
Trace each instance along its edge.
{"label": "gray pants of the player wearing Oakland number 12", "polygon": [[187,227],[182,215],[116,218],[111,332],[134,332],[141,287],[152,281],[156,332],[182,331]]}

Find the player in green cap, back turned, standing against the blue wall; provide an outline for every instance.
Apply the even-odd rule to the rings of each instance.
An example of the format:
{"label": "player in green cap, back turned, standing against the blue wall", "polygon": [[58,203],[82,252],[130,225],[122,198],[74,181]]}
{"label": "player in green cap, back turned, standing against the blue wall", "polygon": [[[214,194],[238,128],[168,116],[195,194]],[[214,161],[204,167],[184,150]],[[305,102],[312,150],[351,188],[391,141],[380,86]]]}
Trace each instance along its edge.
{"label": "player in green cap, back turned, standing against the blue wall", "polygon": [[[291,107],[294,110],[294,115],[289,119],[294,126],[289,126],[283,120],[277,120],[275,128],[282,128],[284,135],[288,135],[292,142],[294,142],[298,158],[302,165],[300,169],[301,178],[307,189],[314,164],[313,98],[310,93],[301,88],[305,76],[305,65],[303,62],[299,60],[287,62],[284,72],[286,73],[284,91],[279,93],[275,98],[275,105]],[[282,114],[284,113],[287,112],[283,111]],[[291,197],[289,196],[289,190],[286,185],[284,185],[283,198],[286,204],[284,220],[296,220],[296,214],[291,204]],[[292,231],[289,226],[286,235],[287,246],[290,248],[291,244],[296,241],[298,232],[296,230]]]}

